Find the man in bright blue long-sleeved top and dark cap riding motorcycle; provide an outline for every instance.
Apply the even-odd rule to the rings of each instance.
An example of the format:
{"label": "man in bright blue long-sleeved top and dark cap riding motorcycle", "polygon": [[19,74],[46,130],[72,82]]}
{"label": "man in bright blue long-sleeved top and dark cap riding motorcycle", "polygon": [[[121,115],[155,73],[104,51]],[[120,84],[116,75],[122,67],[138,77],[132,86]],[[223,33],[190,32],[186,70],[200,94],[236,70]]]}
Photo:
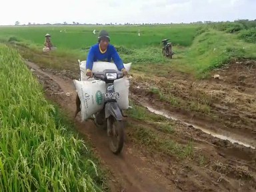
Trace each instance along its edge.
{"label": "man in bright blue long-sleeved top and dark cap riding motorcycle", "polygon": [[123,71],[123,75],[128,75],[122,59],[119,57],[115,47],[110,43],[109,33],[107,31],[102,30],[99,32],[98,43],[93,45],[89,50],[86,60],[86,75],[88,77],[92,77],[91,70],[93,69],[94,61],[107,61],[111,62],[113,59],[117,69],[119,71]]}

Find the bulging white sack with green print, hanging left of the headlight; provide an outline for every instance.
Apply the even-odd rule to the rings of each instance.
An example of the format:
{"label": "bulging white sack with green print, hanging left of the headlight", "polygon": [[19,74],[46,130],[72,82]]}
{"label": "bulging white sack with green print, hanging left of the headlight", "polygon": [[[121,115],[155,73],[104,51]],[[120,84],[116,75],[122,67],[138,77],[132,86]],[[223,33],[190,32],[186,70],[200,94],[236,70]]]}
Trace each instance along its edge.
{"label": "bulging white sack with green print, hanging left of the headlight", "polygon": [[84,121],[103,109],[106,83],[104,81],[73,81],[81,101],[81,121]]}

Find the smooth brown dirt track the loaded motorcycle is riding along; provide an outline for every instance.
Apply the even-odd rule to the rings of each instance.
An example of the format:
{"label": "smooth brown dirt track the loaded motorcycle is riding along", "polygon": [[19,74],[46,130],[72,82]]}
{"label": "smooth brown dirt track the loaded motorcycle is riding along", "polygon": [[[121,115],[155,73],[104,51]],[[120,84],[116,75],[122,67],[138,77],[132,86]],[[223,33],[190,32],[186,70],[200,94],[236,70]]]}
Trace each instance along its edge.
{"label": "smooth brown dirt track the loaded motorcycle is riding along", "polygon": [[[49,74],[39,69],[35,63],[28,61],[26,63],[32,71],[35,70],[39,81],[43,81],[44,87],[49,90],[50,95],[47,97],[61,105],[61,108],[67,110],[72,117],[76,109],[73,81]],[[51,94],[52,91],[57,91],[57,93]],[[57,97],[51,97],[51,95],[57,95]],[[114,155],[109,149],[107,133],[104,130],[97,129],[92,121],[81,123],[76,120],[75,125],[80,133],[89,137],[97,155],[113,174],[114,178],[110,182],[111,191],[180,191],[175,189],[175,185],[157,169],[147,163],[144,160],[145,157],[138,153],[130,143],[125,142],[122,153]]]}

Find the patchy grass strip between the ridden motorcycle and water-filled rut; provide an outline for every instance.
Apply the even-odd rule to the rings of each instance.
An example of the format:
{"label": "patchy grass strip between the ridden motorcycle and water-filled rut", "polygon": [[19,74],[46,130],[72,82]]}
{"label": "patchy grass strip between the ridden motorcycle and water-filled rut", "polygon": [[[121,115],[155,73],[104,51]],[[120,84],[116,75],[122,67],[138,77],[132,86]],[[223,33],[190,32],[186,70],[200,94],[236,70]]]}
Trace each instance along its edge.
{"label": "patchy grass strip between the ridden motorcycle and water-filled rut", "polygon": [[191,159],[194,157],[193,143],[187,141],[187,145],[177,143],[175,139],[175,125],[161,115],[155,115],[147,109],[130,104],[133,108],[127,111],[129,117],[135,121],[129,121],[129,135],[136,143],[147,146],[152,151],[159,151],[177,157],[178,159]]}

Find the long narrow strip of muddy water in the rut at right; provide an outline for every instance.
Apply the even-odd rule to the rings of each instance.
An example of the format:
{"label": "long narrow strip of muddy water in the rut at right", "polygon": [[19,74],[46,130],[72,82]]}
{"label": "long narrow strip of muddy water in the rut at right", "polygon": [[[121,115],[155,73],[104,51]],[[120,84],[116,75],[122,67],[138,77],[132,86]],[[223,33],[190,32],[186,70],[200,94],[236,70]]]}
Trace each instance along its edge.
{"label": "long narrow strip of muddy water in the rut at right", "polygon": [[218,139],[228,140],[231,143],[238,143],[239,145],[243,145],[245,147],[251,147],[252,149],[255,149],[255,147],[253,147],[252,145],[249,145],[248,143],[244,143],[243,141],[238,141],[237,139],[234,139],[234,138],[229,137],[227,135],[221,135],[221,134],[218,134],[218,133],[214,133],[213,131],[211,131],[209,129],[205,129],[204,127],[201,127],[201,126],[198,126],[198,125],[193,125],[192,123],[185,122],[183,119],[180,119],[179,117],[175,117],[175,116],[167,113],[167,111],[161,111],[161,110],[154,109],[153,107],[151,107],[150,105],[146,105],[145,103],[141,103],[141,105],[143,105],[143,107],[146,107],[151,113],[155,113],[157,115],[162,115],[162,116],[166,117],[167,119],[172,119],[172,120],[175,120],[175,121],[181,121],[185,125],[192,126],[195,129],[200,129],[204,133],[207,133],[207,134],[209,134],[213,137],[217,137]]}

